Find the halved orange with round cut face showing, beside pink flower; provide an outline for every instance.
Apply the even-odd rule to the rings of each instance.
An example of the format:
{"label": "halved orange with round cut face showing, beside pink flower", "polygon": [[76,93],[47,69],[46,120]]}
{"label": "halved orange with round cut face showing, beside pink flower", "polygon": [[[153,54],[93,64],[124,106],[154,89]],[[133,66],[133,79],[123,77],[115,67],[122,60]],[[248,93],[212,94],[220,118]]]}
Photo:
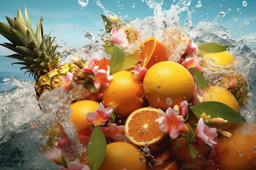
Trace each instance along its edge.
{"label": "halved orange with round cut face showing, beside pink flower", "polygon": [[130,141],[138,147],[144,147],[145,142],[148,146],[158,146],[168,133],[159,129],[155,119],[161,116],[157,108],[144,107],[132,112],[125,123],[124,132]]}

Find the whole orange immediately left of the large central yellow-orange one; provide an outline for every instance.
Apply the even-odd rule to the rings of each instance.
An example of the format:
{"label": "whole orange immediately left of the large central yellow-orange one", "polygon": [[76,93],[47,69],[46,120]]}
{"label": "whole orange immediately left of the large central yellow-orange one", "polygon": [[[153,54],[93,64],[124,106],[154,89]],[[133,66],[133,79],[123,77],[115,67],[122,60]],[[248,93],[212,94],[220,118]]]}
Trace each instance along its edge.
{"label": "whole orange immediately left of the large central yellow-orange one", "polygon": [[101,97],[105,107],[117,105],[115,115],[128,116],[145,105],[142,80],[133,78],[130,71],[114,73],[108,87],[102,87]]}

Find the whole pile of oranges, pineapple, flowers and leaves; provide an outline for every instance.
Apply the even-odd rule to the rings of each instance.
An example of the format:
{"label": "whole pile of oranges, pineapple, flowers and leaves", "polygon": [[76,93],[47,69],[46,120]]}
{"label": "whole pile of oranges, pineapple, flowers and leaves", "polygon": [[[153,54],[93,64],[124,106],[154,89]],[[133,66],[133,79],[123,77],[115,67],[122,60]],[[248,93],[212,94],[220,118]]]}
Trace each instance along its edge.
{"label": "whole pile of oranges, pineapple, flowers and leaves", "polygon": [[[56,142],[58,149],[47,152],[47,157],[62,169],[77,162],[79,170],[89,166],[92,170],[255,168],[256,125],[242,123],[245,120],[238,114],[246,103],[247,83],[236,71],[227,46],[195,46],[190,38],[184,39],[180,27],[170,26],[163,30],[163,42],[148,38],[133,55],[125,55],[110,38],[104,40],[108,44],[104,48],[112,54],[110,61],[76,60],[60,65],[60,53],[54,52],[57,45],[43,34],[42,17],[34,33],[26,8],[25,13],[27,22],[20,9],[14,20],[7,17],[9,25],[0,22],[0,33],[11,42],[1,45],[18,53],[7,57],[21,60],[17,64],[34,75],[37,97],[60,85],[73,88],[74,82],[85,85],[89,92],[90,99],[69,106],[79,145],[87,146],[85,152],[70,149],[72,142],[60,124],[51,128],[49,140],[55,144],[53,139],[61,139]],[[123,29],[122,36],[130,35],[124,44],[137,40],[136,30],[123,26],[120,18],[103,16],[103,20],[107,33]],[[119,54],[126,58],[120,60]],[[177,61],[172,61],[174,55]],[[134,56],[135,64],[130,62]],[[102,143],[97,141],[102,139],[100,134],[104,144],[97,148],[95,143]],[[76,161],[67,165],[63,152]],[[53,153],[61,153],[61,160],[56,161]]]}

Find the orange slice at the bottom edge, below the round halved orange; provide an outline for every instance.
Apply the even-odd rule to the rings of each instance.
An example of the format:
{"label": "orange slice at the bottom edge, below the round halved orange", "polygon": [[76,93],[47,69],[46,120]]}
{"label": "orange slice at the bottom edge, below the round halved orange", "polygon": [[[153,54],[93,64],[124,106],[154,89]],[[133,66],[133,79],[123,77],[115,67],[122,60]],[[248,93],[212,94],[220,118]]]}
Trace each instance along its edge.
{"label": "orange slice at the bottom edge, below the round halved orange", "polygon": [[179,170],[175,159],[166,159],[162,163],[155,164],[152,167],[148,166],[147,170]]}

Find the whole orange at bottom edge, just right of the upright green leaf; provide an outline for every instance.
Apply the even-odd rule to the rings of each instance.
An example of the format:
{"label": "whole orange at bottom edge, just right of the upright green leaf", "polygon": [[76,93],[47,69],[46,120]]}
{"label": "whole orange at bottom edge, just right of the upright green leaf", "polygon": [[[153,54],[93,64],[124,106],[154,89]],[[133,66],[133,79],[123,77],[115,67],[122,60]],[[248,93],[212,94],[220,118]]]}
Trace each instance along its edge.
{"label": "whole orange at bottom edge, just right of the upright green leaf", "polygon": [[140,150],[126,142],[107,145],[105,158],[99,170],[146,170],[146,158]]}

